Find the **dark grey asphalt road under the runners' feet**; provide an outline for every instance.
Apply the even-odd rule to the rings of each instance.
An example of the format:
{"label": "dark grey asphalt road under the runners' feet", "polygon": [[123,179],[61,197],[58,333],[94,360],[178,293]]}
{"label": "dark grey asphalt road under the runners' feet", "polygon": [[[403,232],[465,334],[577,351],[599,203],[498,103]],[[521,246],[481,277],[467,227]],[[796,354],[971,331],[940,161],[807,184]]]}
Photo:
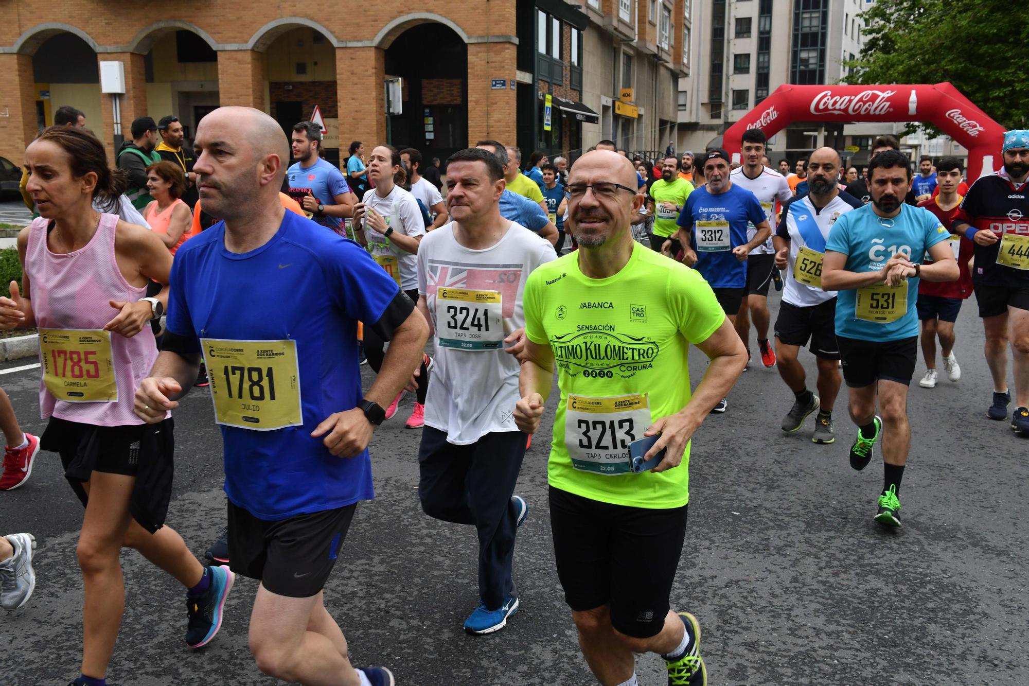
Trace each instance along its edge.
{"label": "dark grey asphalt road under the runners' feet", "polygon": [[[1007,422],[985,418],[991,388],[974,303],[957,330],[961,381],[919,388],[920,365],[911,389],[914,447],[900,530],[872,519],[882,486],[878,448],[864,472],[848,466],[855,430],[844,399],[835,445],[811,443],[810,419],[785,436],[779,422],[792,396],[774,369],[757,363],[730,396],[729,411],[701,427],[672,601],[700,618],[709,683],[1029,683],[1029,442]],[[812,357],[803,358],[813,374]],[[7,363],[0,373],[32,362]],[[695,384],[704,362],[695,350]],[[25,428],[41,432],[38,370],[0,375],[0,385]],[[224,521],[221,446],[208,396],[193,389],[176,415],[168,522],[198,555]],[[419,508],[420,432],[402,423],[411,402],[376,433],[377,499],[358,508],[325,589],[353,659],[389,665],[404,686],[594,683],[554,568],[543,438],[553,412],[519,485],[531,508],[516,550],[522,608],[507,628],[476,638],[461,630],[477,601],[474,533]],[[41,453],[24,487],[0,493],[0,528],[32,531],[39,542],[35,594],[0,619],[3,684],[63,686],[78,674],[80,518],[49,453]],[[274,683],[247,649],[255,582],[237,584],[221,633],[190,652],[181,588],[134,551],[122,554],[122,564],[129,590],[110,683]],[[637,672],[645,686],[665,683],[655,655],[641,656]]]}

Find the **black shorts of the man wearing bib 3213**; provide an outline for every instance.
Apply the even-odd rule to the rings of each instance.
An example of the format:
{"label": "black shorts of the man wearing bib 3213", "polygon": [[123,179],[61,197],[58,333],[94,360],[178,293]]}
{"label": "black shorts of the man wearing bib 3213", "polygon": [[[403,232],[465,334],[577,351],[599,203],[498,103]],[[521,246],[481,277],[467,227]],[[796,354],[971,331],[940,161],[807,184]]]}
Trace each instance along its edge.
{"label": "black shorts of the man wearing bib 3213", "polygon": [[631,508],[551,486],[551,533],[565,603],[576,612],[610,606],[611,624],[626,636],[660,633],[687,507]]}

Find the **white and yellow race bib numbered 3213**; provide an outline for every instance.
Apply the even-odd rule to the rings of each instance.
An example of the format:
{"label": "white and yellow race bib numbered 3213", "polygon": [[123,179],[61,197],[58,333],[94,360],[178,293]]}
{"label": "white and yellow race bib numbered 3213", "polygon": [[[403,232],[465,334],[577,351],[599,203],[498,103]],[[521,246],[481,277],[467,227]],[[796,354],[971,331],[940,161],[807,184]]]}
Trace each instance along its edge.
{"label": "white and yellow race bib numbered 3213", "polygon": [[613,476],[632,473],[629,444],[650,425],[646,393],[590,398],[568,396],[565,447],[572,467]]}

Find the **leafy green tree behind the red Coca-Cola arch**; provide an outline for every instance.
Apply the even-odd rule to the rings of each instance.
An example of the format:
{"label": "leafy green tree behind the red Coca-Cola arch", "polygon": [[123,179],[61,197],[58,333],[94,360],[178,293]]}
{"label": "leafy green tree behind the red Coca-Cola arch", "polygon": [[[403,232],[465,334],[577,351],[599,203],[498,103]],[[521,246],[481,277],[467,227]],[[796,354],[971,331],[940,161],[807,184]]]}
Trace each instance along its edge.
{"label": "leafy green tree behind the red Coca-Cola arch", "polygon": [[[1024,0],[878,0],[861,14],[848,83],[950,81],[1007,129],[1029,128],[1029,5]],[[938,134],[928,124],[909,125]]]}

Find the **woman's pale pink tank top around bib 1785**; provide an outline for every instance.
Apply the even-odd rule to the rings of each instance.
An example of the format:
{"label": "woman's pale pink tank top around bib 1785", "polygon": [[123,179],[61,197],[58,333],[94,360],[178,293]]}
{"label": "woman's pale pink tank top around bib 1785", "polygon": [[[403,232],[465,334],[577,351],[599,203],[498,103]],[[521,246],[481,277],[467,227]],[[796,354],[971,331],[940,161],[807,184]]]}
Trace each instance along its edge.
{"label": "woman's pale pink tank top around bib 1785", "polygon": [[[117,310],[108,301],[135,302],[146,287],[126,281],[114,259],[114,230],[117,214],[102,214],[97,233],[84,247],[67,254],[50,252],[46,246],[47,219],[39,217],[29,228],[25,271],[31,281],[32,310],[42,329],[103,329]],[[56,399],[42,380],[39,383],[39,412],[68,421],[100,426],[142,424],[133,414],[133,397],[157,358],[153,332],[149,325],[126,338],[111,334],[111,352],[118,396],[111,403],[69,403]]]}

